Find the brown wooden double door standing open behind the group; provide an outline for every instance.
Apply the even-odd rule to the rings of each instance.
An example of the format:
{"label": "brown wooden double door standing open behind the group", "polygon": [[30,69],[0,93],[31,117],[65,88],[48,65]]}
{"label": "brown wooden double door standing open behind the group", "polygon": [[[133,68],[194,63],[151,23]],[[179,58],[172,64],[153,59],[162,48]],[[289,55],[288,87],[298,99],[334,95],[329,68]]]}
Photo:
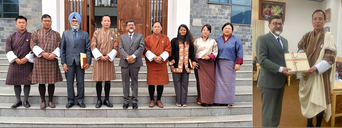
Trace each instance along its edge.
{"label": "brown wooden double door standing open behind the group", "polygon": [[[133,20],[135,32],[144,37],[152,34],[152,23],[162,23],[162,34],[167,34],[168,0],[117,0],[117,37],[127,33],[126,22]],[[87,7],[89,7],[89,19],[87,19]],[[89,32],[90,39],[95,31],[95,0],[65,0],[65,30],[70,29],[68,16],[72,12],[78,12],[82,16],[81,30]],[[89,21],[88,23],[85,21]],[[118,51],[118,50],[117,50]],[[118,56],[120,53],[118,52]]]}

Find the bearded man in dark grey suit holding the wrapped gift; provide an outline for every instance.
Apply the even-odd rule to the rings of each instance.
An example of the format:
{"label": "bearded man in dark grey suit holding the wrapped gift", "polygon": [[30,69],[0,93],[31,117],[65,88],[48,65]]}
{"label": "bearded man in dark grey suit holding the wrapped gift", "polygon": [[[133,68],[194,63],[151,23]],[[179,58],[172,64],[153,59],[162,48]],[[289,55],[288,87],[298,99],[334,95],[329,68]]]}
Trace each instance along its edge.
{"label": "bearded man in dark grey suit holding the wrapped gift", "polygon": [[289,73],[284,54],[289,53],[287,40],[280,36],[284,21],[273,15],[268,19],[270,32],[257,39],[256,50],[260,64],[258,86],[261,91],[262,127],[278,127],[285,81]]}

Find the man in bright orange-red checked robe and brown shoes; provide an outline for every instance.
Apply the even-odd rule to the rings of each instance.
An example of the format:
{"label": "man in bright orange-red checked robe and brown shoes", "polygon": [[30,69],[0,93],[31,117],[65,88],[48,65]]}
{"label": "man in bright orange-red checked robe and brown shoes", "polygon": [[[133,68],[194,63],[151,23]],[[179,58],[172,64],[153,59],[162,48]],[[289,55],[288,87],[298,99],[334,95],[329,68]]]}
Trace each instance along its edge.
{"label": "man in bright orange-red checked robe and brown shoes", "polygon": [[[153,34],[145,38],[145,56],[147,65],[147,85],[150,96],[149,107],[157,104],[159,108],[163,108],[161,103],[161,95],[166,84],[169,84],[168,67],[166,63],[171,56],[170,39],[161,34],[162,25],[159,21],[152,24]],[[154,100],[155,85],[157,85],[157,101]]]}

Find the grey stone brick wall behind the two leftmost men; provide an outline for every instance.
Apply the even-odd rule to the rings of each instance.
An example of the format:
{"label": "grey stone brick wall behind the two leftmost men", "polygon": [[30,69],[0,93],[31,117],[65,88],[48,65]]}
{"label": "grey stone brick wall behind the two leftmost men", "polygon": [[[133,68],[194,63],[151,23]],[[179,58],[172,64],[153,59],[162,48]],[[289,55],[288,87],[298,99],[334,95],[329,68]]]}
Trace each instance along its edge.
{"label": "grey stone brick wall behind the two leftmost men", "polygon": [[[33,32],[42,28],[42,1],[41,0],[19,0],[19,15],[27,18],[27,31]],[[15,19],[0,19],[0,54],[5,54],[5,45],[8,36],[18,29]]]}

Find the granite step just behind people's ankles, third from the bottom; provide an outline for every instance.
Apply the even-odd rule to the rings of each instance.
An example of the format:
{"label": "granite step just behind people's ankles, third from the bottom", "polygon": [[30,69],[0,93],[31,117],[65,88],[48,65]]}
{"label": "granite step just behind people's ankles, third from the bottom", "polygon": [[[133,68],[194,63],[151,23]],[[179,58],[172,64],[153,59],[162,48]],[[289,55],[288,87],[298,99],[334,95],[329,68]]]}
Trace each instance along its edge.
{"label": "granite step just behind people's ankles, third from the bottom", "polygon": [[[76,91],[77,89],[74,88]],[[77,91],[76,91],[77,92]],[[84,88],[84,103],[94,104],[97,102],[96,88]],[[77,95],[77,93],[75,94]],[[104,89],[102,89],[102,100],[104,100]],[[132,92],[130,91],[130,96]],[[157,98],[155,93],[155,99]],[[21,94],[24,99],[24,92]],[[48,100],[48,92],[45,94],[45,100]],[[29,95],[29,103],[41,103],[38,87],[31,87]],[[122,88],[110,88],[109,100],[113,104],[123,103]],[[139,103],[148,104],[150,101],[148,88],[139,87],[138,90]],[[16,101],[13,87],[0,87],[0,103],[14,103]],[[161,97],[162,103],[176,103],[175,91],[173,87],[164,87]],[[252,101],[252,86],[236,86],[235,102],[251,102]],[[53,102],[56,104],[67,104],[67,88],[55,88]],[[76,102],[76,101],[75,101]],[[187,103],[197,103],[197,88],[188,87]]]}

